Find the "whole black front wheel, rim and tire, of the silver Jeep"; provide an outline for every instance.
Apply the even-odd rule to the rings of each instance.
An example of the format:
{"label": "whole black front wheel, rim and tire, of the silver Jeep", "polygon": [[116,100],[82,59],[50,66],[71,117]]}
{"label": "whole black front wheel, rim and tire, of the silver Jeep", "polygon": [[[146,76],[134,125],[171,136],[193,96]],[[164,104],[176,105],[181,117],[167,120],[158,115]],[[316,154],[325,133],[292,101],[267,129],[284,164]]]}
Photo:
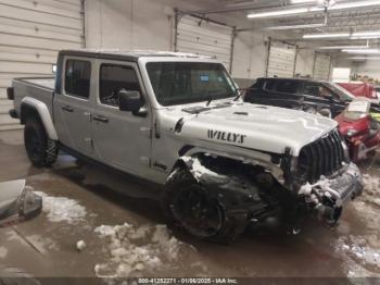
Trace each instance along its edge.
{"label": "whole black front wheel, rim and tire, of the silver Jeep", "polygon": [[162,203],[170,222],[200,239],[230,244],[245,230],[245,214],[230,214],[185,168],[172,175]]}

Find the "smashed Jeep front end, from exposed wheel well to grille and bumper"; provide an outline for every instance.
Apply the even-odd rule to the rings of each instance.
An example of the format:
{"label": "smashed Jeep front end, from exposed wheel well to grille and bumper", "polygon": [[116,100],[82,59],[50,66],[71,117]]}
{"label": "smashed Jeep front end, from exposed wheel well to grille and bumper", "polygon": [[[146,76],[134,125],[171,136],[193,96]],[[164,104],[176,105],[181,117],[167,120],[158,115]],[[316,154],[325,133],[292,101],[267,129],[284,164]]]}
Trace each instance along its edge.
{"label": "smashed Jeep front end, from exposed wheel well to grille and bumper", "polygon": [[[335,132],[302,148],[297,158],[287,149],[274,160],[274,168],[207,153],[182,157],[181,161],[194,181],[204,186],[207,199],[218,201],[226,220],[235,221],[239,228],[254,223],[297,232],[311,215],[334,226],[343,205],[363,190],[359,170],[350,163],[345,145]],[[170,207],[180,212],[183,205],[174,202]],[[188,212],[193,208],[189,207]],[[207,210],[200,211],[202,215]],[[186,213],[180,216],[186,218]]]}

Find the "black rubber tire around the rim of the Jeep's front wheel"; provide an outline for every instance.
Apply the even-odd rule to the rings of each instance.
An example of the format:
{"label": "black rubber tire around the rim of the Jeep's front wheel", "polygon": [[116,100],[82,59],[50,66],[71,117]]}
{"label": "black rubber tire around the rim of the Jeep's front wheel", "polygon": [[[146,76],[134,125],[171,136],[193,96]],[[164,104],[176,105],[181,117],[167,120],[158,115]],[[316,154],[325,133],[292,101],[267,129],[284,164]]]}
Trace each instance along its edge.
{"label": "black rubber tire around the rim of the Jeep's front wheel", "polygon": [[220,209],[223,222],[219,231],[212,236],[205,237],[200,236],[194,232],[189,232],[186,226],[183,226],[182,222],[176,219],[173,212],[173,203],[177,199],[177,196],[181,193],[181,189],[190,188],[191,185],[199,186],[205,191],[205,194],[207,194],[206,186],[200,185],[186,168],[177,169],[172,175],[170,179],[167,182],[161,199],[162,209],[167,223],[172,226],[185,230],[185,232],[188,234],[200,239],[218,244],[233,243],[236,238],[245,231],[246,213],[244,211],[228,211],[217,199],[215,199],[215,202]]}

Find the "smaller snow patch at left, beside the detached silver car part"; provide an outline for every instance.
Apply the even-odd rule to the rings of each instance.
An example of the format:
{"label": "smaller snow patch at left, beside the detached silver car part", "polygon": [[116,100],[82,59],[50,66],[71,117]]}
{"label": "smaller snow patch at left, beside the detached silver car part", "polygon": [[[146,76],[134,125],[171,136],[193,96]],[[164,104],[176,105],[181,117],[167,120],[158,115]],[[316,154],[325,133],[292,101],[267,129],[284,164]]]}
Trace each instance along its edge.
{"label": "smaller snow patch at left, beside the detached silver car part", "polygon": [[42,211],[48,213],[50,222],[75,224],[85,221],[87,211],[78,201],[65,197],[52,197],[41,191],[35,194],[42,197]]}

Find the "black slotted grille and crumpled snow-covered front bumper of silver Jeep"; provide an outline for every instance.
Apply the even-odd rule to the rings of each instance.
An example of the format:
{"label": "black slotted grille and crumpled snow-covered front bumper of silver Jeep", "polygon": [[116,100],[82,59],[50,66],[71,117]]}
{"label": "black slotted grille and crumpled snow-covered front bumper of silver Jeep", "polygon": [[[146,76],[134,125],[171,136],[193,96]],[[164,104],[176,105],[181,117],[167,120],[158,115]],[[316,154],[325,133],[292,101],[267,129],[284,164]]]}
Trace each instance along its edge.
{"label": "black slotted grille and crumpled snow-covered front bumper of silver Jeep", "polygon": [[296,195],[299,205],[328,226],[337,225],[344,203],[364,188],[360,172],[350,162],[338,131],[305,146],[299,158],[282,166],[288,173],[286,185]]}

